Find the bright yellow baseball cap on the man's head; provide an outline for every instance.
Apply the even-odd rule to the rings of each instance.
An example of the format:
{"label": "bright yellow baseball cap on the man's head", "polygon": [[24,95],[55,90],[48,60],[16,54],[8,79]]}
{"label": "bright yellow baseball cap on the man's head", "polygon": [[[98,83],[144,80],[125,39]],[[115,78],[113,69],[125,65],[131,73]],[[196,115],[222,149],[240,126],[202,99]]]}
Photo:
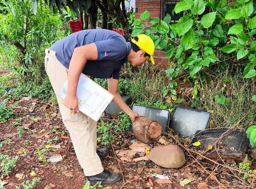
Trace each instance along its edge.
{"label": "bright yellow baseball cap on the man's head", "polygon": [[147,52],[150,55],[149,60],[154,65],[155,61],[153,59],[153,54],[154,54],[154,51],[155,51],[155,44],[154,44],[153,40],[145,34],[140,34],[136,37],[138,37],[139,40],[135,41],[134,38],[133,38],[132,42],[134,44],[136,44],[138,47],[140,47],[141,50],[144,50],[145,52]]}

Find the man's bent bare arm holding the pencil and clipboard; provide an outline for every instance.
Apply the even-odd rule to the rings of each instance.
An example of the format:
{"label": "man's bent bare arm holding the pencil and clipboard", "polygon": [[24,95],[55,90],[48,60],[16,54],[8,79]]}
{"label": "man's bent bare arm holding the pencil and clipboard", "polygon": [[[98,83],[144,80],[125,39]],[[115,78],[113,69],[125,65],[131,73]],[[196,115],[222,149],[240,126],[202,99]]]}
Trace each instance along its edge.
{"label": "man's bent bare arm holding the pencil and clipboard", "polygon": [[68,68],[68,83],[67,94],[64,99],[64,105],[75,114],[78,111],[78,99],[76,97],[76,90],[79,76],[86,64],[87,60],[97,60],[97,47],[94,43],[76,47],[73,51],[69,68]]}

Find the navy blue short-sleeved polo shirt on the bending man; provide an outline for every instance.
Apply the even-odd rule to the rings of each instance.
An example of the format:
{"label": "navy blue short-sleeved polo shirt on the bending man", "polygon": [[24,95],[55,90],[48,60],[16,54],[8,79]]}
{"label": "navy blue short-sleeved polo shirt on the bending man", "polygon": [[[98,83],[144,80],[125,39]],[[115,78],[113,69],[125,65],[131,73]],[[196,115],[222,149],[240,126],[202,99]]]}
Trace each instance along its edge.
{"label": "navy blue short-sleeved polo shirt on the bending man", "polygon": [[57,59],[68,68],[74,48],[91,43],[97,47],[97,60],[88,60],[82,73],[94,78],[119,79],[121,66],[127,62],[131,44],[114,31],[82,30],[57,41],[50,49],[56,51]]}

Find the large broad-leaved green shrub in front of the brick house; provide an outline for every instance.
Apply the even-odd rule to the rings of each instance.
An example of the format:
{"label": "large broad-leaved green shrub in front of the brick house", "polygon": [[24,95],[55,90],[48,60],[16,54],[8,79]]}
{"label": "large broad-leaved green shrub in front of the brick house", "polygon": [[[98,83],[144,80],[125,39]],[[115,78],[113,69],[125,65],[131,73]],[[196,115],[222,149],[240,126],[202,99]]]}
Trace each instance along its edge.
{"label": "large broad-leaved green shrub in front of the brick house", "polygon": [[[202,15],[207,10],[208,13]],[[184,0],[176,4],[174,11],[176,14],[186,11],[187,14],[176,24],[170,24],[169,14],[163,20],[149,19],[148,11],[133,22],[132,37],[142,32],[150,36],[155,47],[165,51],[165,57],[169,59],[170,68],[166,70],[169,82],[162,90],[165,98],[170,97],[168,103],[182,100],[175,91],[178,75],[189,75],[189,79],[196,81],[201,77],[206,80],[208,67],[227,62],[229,57],[249,62],[243,68],[244,78],[256,75],[256,17],[253,10],[251,1],[226,4],[225,1]],[[194,104],[198,105],[196,91],[193,91],[193,97],[197,101]]]}

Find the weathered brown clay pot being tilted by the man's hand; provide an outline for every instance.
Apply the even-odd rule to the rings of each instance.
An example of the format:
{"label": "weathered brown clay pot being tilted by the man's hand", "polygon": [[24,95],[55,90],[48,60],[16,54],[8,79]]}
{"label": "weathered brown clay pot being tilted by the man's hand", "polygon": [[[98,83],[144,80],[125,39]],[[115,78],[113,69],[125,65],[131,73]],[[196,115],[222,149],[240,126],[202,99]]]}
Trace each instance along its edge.
{"label": "weathered brown clay pot being tilted by the man's hand", "polygon": [[137,117],[132,123],[132,131],[139,141],[150,144],[162,135],[162,126],[159,122],[145,117]]}

